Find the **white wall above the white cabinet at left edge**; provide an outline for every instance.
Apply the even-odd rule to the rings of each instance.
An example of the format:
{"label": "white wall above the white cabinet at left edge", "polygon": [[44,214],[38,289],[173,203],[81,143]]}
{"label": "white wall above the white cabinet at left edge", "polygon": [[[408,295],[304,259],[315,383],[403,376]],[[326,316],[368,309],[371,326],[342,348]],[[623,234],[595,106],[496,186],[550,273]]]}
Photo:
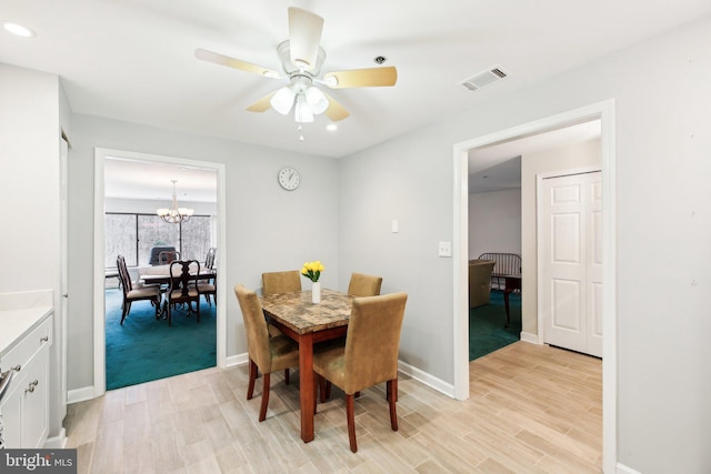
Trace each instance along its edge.
{"label": "white wall above the white cabinet at left edge", "polygon": [[59,435],[62,418],[59,139],[60,113],[67,115],[54,74],[0,63],[0,249],[3,268],[12,269],[0,272],[0,293],[53,292],[52,437]]}

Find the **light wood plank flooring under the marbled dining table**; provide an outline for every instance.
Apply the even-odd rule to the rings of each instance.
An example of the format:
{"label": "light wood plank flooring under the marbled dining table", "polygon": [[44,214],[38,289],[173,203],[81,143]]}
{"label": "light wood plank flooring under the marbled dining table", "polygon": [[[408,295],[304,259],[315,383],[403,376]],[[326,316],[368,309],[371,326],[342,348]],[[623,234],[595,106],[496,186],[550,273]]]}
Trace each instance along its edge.
{"label": "light wood plank flooring under the marbled dining table", "polygon": [[246,400],[247,365],[208,369],[71,404],[67,447],[80,473],[599,473],[601,361],[518,342],[470,363],[458,402],[409,377],[390,430],[384,384],[356,403],[358,453],[342,393],[319,404],[316,440],[299,437],[298,372],[272,374],[267,420]]}

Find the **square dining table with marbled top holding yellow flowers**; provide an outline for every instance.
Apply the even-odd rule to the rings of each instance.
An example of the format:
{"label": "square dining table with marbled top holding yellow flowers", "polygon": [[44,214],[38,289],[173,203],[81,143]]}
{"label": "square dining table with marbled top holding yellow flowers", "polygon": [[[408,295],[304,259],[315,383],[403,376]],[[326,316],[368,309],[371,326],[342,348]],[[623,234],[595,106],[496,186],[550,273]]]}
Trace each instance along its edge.
{"label": "square dining table with marbled top holding yellow flowers", "polygon": [[346,335],[353,297],[323,289],[320,303],[312,303],[311,291],[262,295],[260,301],[267,320],[299,344],[301,440],[308,443],[314,437],[313,346]]}

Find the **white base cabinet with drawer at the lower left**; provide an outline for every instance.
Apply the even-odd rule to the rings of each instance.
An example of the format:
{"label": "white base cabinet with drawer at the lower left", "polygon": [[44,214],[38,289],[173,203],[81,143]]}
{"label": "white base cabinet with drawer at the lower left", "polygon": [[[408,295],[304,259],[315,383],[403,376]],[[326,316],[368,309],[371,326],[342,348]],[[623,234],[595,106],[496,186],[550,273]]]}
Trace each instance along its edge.
{"label": "white base cabinet with drawer at the lower left", "polygon": [[0,402],[6,447],[42,447],[49,434],[49,362],[52,313],[0,357],[14,376]]}

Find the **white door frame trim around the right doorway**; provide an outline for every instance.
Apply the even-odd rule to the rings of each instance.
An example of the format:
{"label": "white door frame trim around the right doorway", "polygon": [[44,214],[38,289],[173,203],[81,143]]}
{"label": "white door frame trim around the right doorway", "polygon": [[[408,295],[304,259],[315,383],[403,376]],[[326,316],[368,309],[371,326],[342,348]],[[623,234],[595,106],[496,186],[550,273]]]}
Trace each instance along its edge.
{"label": "white door frame trim around the right doorway", "polygon": [[[535,122],[482,135],[465,142],[455,143],[454,152],[454,230],[453,230],[453,281],[454,281],[454,397],[469,397],[468,361],[468,155],[473,149],[537,135],[569,125],[600,120],[601,124],[601,169],[602,169],[602,255],[603,292],[602,320],[603,361],[602,361],[602,438],[603,471],[612,471],[617,460],[617,281],[615,268],[615,174],[614,174],[614,101],[608,100],[581,109],[552,115]],[[523,333],[525,333],[525,327]],[[535,341],[529,341],[538,343]]]}

